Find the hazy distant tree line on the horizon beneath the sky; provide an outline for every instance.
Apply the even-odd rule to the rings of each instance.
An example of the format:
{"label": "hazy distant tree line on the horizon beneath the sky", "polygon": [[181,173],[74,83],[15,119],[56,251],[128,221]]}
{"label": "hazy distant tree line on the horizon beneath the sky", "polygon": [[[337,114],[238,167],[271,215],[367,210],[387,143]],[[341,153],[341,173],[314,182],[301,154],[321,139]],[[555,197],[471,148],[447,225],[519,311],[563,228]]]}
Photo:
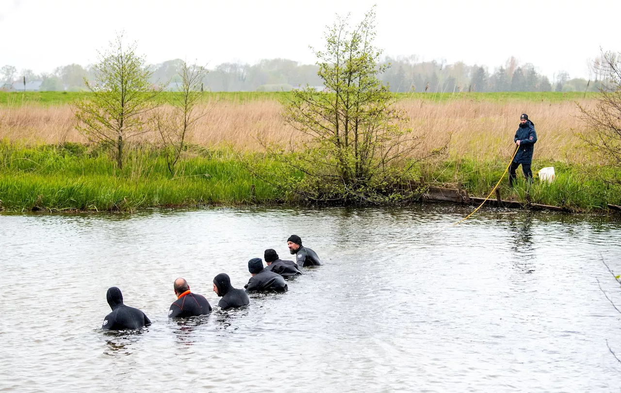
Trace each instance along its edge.
{"label": "hazy distant tree line on the horizon beneath the sky", "polygon": [[[570,78],[566,71],[558,71],[550,80],[531,63],[520,65],[514,57],[493,70],[461,62],[419,61],[417,56],[386,57],[379,66],[388,63],[390,67],[381,79],[392,92],[597,91],[601,87],[597,76],[592,80]],[[183,60],[175,59],[148,65],[151,82],[176,90],[183,64]],[[255,65],[222,63],[209,70],[201,86],[206,91],[289,91],[307,84],[322,86],[318,71],[317,65],[282,58],[261,60]],[[70,64],[40,75],[32,70],[17,72],[14,66],[6,65],[0,68],[0,88],[10,89],[12,83],[19,86],[24,77],[27,81],[41,81],[42,91],[80,91],[86,89],[84,78],[93,80],[94,75],[92,65]]]}

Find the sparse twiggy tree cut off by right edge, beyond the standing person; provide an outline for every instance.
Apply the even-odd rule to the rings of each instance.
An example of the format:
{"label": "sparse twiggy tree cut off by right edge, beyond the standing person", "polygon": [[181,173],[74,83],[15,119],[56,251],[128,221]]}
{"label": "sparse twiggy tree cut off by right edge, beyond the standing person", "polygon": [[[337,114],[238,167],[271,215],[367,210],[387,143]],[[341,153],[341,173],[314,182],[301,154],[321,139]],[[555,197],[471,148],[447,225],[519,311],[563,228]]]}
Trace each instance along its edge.
{"label": "sparse twiggy tree cut off by right edge, beyond the standing person", "polygon": [[[606,75],[608,85],[600,89],[593,109],[578,104],[581,119],[587,125],[587,132],[579,133],[594,153],[606,165],[614,169],[607,171],[604,181],[621,186],[621,61],[619,53],[605,52],[599,67]],[[604,173],[604,172],[602,172]]]}

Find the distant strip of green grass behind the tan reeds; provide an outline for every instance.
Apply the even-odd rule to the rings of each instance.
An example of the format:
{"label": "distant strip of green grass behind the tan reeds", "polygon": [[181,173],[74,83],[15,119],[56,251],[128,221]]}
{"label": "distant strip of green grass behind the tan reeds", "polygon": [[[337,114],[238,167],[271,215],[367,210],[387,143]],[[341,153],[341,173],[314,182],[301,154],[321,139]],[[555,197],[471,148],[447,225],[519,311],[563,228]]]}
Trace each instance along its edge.
{"label": "distant strip of green grass behind the tan reeds", "polygon": [[[165,92],[163,94],[175,94]],[[204,100],[227,101],[235,103],[245,103],[252,101],[282,100],[290,93],[282,92],[230,92],[230,93],[204,93]],[[451,100],[471,100],[478,102],[508,102],[508,101],[532,101],[532,102],[563,102],[576,101],[593,97],[596,93],[397,93],[399,99],[425,99],[434,102],[446,102]],[[25,104],[39,104],[42,106],[63,105],[73,102],[83,97],[88,97],[86,92],[66,92],[66,91],[27,91],[19,92],[0,92],[0,107],[22,106]]]}

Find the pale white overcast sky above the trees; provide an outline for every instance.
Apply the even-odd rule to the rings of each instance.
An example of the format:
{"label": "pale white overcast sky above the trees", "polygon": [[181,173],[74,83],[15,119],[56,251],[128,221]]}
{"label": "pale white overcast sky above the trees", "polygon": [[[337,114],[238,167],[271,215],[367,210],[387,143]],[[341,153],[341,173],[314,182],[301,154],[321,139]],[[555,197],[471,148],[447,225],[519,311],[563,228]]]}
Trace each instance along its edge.
{"label": "pale white overcast sky above the trees", "polygon": [[148,63],[186,58],[209,67],[289,58],[314,63],[325,26],[377,7],[384,54],[487,65],[511,55],[552,77],[587,78],[599,48],[621,50],[621,1],[486,0],[0,0],[0,66],[39,73],[87,65],[116,32],[137,40]]}

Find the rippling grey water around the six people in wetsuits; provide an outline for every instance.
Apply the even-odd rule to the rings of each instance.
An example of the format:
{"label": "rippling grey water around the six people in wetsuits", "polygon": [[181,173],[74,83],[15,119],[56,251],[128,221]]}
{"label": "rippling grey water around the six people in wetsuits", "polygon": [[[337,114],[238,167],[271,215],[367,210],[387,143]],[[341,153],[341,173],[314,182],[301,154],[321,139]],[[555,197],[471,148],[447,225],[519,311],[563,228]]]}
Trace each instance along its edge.
{"label": "rippling grey water around the six people in wetsuits", "polygon": [[[619,391],[621,223],[450,206],[0,215],[0,391]],[[168,320],[296,233],[324,266],[237,312]],[[153,325],[98,330],[106,290]]]}

